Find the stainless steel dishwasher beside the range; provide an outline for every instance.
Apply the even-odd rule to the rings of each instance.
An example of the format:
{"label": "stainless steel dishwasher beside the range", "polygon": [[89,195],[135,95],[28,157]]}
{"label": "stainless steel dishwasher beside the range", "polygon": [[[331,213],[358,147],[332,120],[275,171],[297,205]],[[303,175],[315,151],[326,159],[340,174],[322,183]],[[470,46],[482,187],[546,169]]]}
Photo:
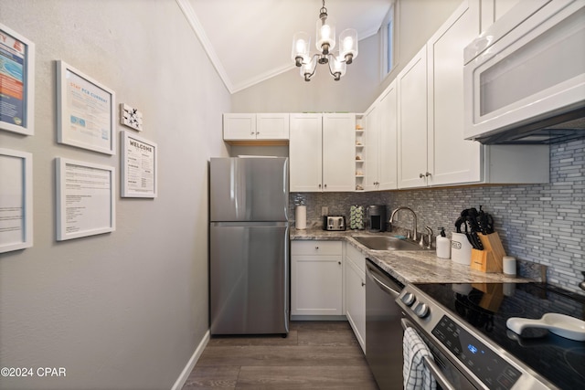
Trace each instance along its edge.
{"label": "stainless steel dishwasher beside the range", "polygon": [[402,311],[395,300],[404,285],[366,260],[367,365],[381,390],[401,390]]}

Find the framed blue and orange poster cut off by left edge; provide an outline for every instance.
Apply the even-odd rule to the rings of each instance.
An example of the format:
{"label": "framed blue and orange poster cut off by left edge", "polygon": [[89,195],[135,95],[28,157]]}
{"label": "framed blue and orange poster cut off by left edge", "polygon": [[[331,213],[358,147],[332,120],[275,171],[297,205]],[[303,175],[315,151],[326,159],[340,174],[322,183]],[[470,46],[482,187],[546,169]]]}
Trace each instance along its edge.
{"label": "framed blue and orange poster cut off by left edge", "polygon": [[35,44],[0,23],[0,129],[35,133]]}

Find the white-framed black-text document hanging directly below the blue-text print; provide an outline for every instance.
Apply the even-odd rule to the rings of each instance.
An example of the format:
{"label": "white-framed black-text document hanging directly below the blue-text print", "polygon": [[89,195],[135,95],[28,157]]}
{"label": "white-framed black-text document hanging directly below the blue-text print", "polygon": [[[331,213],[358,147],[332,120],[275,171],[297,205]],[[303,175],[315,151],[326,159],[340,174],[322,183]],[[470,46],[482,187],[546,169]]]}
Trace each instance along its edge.
{"label": "white-framed black-text document hanging directly below the blue-text print", "polygon": [[114,167],[61,157],[55,166],[57,240],[114,231]]}

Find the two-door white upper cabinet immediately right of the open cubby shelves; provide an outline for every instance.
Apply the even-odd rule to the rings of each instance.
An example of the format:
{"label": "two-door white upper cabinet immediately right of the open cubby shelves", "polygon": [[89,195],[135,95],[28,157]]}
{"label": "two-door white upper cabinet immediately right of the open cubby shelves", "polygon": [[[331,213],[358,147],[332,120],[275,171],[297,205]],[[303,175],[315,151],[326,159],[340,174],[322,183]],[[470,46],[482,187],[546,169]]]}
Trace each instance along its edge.
{"label": "two-door white upper cabinet immediately right of the open cubby shelves", "polygon": [[367,111],[365,189],[397,188],[397,109],[396,82],[392,82]]}

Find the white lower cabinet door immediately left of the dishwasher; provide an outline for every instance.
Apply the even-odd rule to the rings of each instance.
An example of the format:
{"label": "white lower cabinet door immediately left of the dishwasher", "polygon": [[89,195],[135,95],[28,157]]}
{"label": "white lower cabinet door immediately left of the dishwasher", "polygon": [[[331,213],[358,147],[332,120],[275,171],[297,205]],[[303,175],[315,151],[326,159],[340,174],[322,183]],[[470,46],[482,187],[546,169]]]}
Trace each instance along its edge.
{"label": "white lower cabinet door immediately left of the dishwasher", "polygon": [[346,318],[366,353],[366,258],[356,248],[346,244],[344,267]]}

